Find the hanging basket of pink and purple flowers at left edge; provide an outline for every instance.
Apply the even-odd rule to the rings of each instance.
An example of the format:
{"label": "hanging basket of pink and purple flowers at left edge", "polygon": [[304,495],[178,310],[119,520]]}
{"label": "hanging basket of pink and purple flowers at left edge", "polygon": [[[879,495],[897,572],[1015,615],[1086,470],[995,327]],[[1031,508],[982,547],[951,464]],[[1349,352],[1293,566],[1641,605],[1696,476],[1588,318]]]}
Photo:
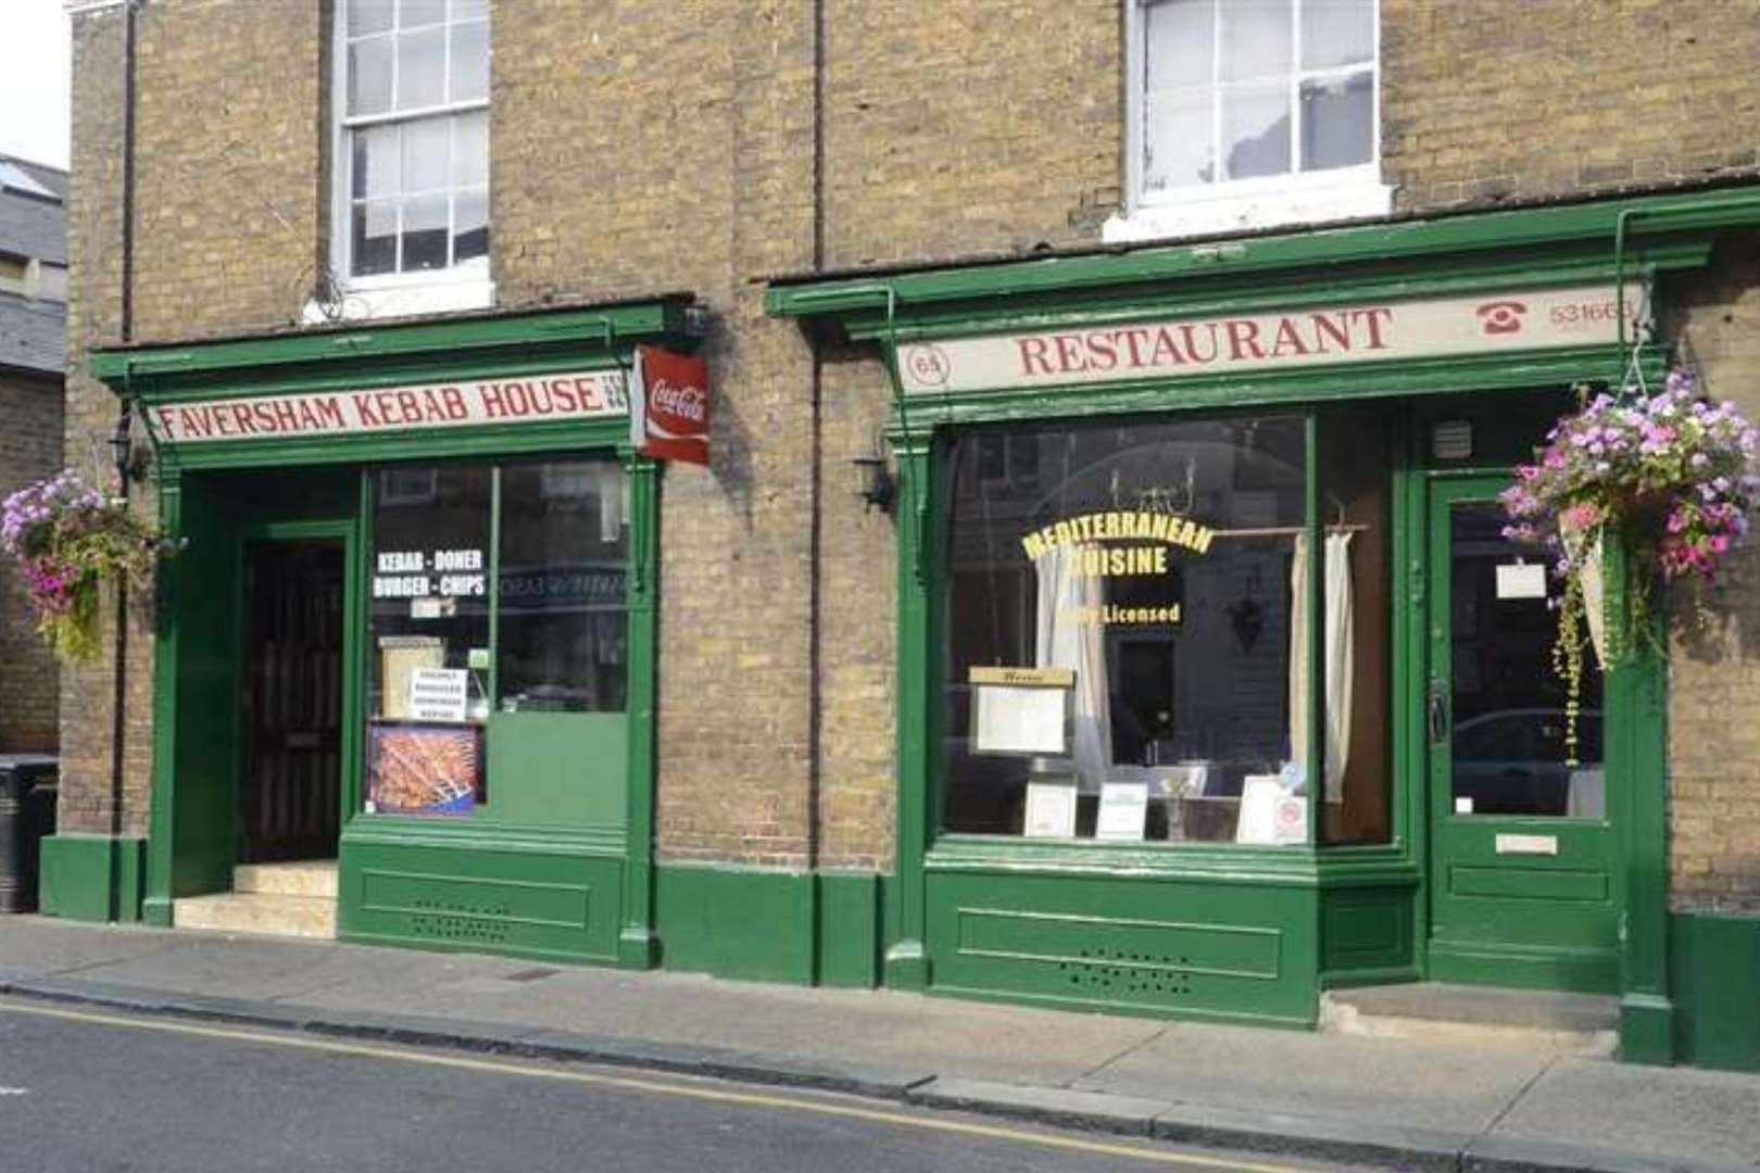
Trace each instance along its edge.
{"label": "hanging basket of pink and purple flowers at left edge", "polygon": [[121,499],[72,471],[26,485],[0,505],[0,549],[19,566],[42,633],[58,659],[83,663],[102,649],[104,582],[150,587],[171,545]]}

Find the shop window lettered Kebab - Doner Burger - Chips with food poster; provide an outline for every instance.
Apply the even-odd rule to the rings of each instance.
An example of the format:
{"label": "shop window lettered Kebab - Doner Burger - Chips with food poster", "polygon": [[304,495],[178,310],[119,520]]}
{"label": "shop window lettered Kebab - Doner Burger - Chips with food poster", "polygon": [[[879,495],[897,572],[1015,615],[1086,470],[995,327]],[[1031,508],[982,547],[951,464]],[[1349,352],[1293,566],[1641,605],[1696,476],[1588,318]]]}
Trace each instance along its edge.
{"label": "shop window lettered Kebab - Doner Burger - Chips with food poster", "polygon": [[[526,821],[595,809],[567,793],[539,802],[526,779],[496,774],[554,788],[581,761],[544,760],[546,746],[616,740],[579,723],[627,709],[621,466],[400,466],[370,480],[366,809]],[[621,788],[620,770],[607,777]]]}

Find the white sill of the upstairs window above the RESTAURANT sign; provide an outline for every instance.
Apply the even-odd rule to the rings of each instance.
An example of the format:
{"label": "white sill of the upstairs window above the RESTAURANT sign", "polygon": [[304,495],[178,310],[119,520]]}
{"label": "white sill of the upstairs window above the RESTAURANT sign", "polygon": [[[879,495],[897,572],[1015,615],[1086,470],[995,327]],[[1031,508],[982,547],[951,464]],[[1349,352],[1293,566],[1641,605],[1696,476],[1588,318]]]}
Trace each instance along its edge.
{"label": "white sill of the upstairs window above the RESTAURANT sign", "polygon": [[1209,195],[1116,213],[1100,227],[1107,244],[1248,232],[1334,220],[1366,220],[1394,209],[1394,188],[1376,179]]}

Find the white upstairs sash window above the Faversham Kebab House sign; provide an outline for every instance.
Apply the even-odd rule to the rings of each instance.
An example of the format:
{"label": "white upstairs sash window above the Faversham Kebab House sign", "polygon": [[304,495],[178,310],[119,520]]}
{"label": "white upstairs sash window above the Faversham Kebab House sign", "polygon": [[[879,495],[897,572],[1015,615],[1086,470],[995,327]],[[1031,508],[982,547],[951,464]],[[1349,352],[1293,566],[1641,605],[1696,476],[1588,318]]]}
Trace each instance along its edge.
{"label": "white upstairs sash window above the Faversham Kebab House sign", "polygon": [[488,281],[488,0],[336,12],[338,276],[348,290]]}

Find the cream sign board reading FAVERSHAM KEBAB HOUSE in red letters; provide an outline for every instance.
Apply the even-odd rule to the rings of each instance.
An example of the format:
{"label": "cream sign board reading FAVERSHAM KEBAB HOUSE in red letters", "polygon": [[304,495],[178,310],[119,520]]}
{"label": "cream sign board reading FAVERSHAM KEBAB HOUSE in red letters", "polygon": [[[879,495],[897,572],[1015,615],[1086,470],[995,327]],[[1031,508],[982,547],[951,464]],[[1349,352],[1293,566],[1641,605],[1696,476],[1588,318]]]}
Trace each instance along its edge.
{"label": "cream sign board reading FAVERSHAM KEBAB HOUSE in red letters", "polygon": [[621,371],[521,375],[415,387],[312,390],[292,396],[190,399],[148,408],[160,443],[296,440],[363,433],[549,424],[628,412]]}

